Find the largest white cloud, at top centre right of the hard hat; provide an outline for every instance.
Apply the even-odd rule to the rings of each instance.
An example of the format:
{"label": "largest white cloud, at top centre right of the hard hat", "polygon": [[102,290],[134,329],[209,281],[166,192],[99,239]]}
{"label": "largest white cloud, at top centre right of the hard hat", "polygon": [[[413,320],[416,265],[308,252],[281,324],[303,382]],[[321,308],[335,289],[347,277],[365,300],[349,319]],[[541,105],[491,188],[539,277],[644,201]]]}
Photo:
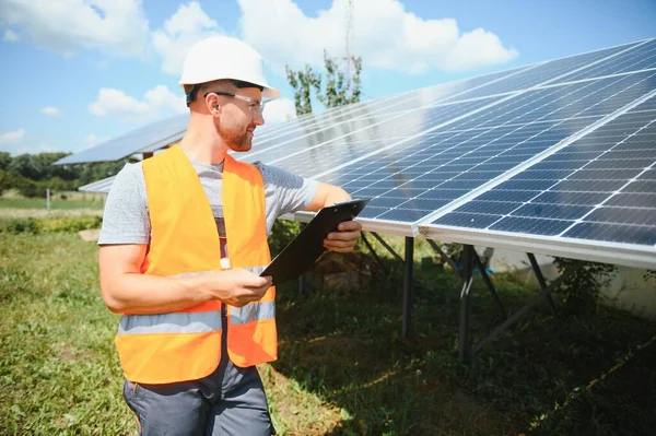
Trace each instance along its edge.
{"label": "largest white cloud, at top centre right of the hard hat", "polygon": [[[323,66],[324,48],[345,52],[347,0],[307,16],[292,0],[238,0],[244,38],[282,71],[305,63]],[[461,33],[453,19],[424,20],[399,0],[354,2],[355,55],[365,67],[410,74],[431,69],[464,71],[506,62],[518,54],[483,28]]]}

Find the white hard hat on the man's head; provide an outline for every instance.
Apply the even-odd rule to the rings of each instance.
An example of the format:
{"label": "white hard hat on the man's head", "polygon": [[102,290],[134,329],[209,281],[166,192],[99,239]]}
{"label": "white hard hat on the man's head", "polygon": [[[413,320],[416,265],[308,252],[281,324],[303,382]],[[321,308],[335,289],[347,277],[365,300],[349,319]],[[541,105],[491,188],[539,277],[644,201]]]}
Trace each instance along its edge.
{"label": "white hard hat on the man's head", "polygon": [[265,79],[262,57],[248,44],[226,36],[201,39],[191,47],[183,66],[179,85],[232,79],[261,86],[267,98],[280,96]]}

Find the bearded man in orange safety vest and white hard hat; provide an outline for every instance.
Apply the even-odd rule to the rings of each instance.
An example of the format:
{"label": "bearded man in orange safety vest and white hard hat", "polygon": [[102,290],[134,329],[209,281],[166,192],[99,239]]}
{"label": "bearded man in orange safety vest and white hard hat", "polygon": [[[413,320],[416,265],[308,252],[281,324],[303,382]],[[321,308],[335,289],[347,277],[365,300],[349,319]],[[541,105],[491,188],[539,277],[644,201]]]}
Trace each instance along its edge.
{"label": "bearded man in orange safety vest and white hard hat", "polygon": [[[276,219],[345,201],[341,188],[230,154],[263,125],[260,56],[226,37],[196,44],[180,85],[190,109],[179,145],[126,165],[107,198],[99,249],[124,397],[142,435],[274,434],[255,365],[277,358],[270,261]],[[351,221],[324,241],[350,251]]]}

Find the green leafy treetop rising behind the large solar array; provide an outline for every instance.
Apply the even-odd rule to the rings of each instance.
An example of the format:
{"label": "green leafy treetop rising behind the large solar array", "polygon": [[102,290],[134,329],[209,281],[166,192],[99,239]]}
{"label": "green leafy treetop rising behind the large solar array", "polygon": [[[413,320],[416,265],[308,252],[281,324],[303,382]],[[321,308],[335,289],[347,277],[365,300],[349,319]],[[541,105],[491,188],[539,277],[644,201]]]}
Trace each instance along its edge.
{"label": "green leafy treetop rising behind the large solar array", "polygon": [[294,89],[294,105],[296,115],[312,113],[312,90],[314,89],[317,99],[326,107],[337,107],[360,102],[362,71],[362,58],[353,60],[353,78],[350,83],[344,73],[338,67],[336,58],[331,58],[328,51],[324,50],[324,63],[326,68],[326,81],[321,86],[321,74],[315,72],[309,64],[305,70],[294,71],[285,66],[288,81]]}

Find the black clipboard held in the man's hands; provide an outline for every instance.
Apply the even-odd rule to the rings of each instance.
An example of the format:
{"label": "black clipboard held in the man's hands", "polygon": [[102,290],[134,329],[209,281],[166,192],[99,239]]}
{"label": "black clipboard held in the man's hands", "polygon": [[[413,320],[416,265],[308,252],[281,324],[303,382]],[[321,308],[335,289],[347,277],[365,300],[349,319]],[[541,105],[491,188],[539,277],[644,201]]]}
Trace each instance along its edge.
{"label": "black clipboard held in the man's hands", "polygon": [[321,209],[298,236],[276,256],[260,276],[271,275],[274,285],[301,276],[326,251],[326,235],[336,231],[339,223],[358,216],[368,201],[350,200]]}

